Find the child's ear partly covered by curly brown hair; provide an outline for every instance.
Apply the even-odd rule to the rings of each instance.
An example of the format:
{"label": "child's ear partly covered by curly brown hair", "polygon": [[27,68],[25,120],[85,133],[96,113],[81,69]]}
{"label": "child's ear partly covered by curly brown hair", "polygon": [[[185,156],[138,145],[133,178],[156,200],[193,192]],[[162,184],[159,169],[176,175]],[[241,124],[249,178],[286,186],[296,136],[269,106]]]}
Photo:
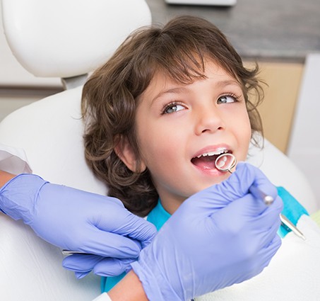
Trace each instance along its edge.
{"label": "child's ear partly covered by curly brown hair", "polygon": [[137,166],[138,158],[136,157],[136,152],[134,152],[127,137],[119,137],[119,142],[114,147],[114,152],[131,171],[141,173],[146,170],[147,166],[143,161],[141,161],[140,166]]}

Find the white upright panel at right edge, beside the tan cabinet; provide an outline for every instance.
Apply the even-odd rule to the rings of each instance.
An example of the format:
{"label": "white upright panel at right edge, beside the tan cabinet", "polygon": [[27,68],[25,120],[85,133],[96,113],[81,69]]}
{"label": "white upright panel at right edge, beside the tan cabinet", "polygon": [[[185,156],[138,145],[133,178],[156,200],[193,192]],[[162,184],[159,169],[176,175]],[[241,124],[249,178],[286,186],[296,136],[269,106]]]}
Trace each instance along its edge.
{"label": "white upright panel at right edge, beside the tan cabinet", "polygon": [[307,57],[288,157],[309,179],[320,208],[320,53]]}

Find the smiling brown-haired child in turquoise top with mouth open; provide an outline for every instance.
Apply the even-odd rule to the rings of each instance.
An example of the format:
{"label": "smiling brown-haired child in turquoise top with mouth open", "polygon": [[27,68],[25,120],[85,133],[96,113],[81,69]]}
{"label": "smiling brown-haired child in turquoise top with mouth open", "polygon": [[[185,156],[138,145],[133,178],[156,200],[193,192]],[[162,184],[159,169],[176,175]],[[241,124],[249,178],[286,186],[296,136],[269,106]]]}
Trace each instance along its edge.
{"label": "smiling brown-haired child in turquoise top with mouth open", "polygon": [[[201,18],[130,35],[83,88],[85,156],[109,195],[160,229],[186,198],[230,176],[215,158],[244,161],[262,132],[257,74]],[[296,223],[307,212],[282,193]]]}

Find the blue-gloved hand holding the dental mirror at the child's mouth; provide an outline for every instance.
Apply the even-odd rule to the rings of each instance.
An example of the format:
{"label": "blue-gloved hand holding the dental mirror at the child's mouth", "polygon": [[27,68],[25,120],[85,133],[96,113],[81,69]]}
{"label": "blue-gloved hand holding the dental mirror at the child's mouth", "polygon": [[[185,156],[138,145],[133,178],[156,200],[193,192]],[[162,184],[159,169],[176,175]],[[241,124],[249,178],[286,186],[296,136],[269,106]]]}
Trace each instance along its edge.
{"label": "blue-gloved hand holding the dental mirror at the child's mouth", "polygon": [[[252,184],[274,203],[255,199]],[[262,172],[243,163],[223,183],[192,195],[131,263],[148,300],[190,300],[259,274],[280,247],[282,208]]]}

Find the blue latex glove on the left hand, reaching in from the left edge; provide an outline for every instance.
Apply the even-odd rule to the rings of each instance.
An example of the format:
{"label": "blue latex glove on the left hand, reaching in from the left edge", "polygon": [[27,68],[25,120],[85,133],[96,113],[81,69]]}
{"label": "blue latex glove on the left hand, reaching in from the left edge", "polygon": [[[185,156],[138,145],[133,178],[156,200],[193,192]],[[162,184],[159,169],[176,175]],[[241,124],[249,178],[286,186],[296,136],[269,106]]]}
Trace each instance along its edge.
{"label": "blue latex glove on the left hand, reaching in from the left edge", "polygon": [[[114,258],[109,259],[109,269],[120,273],[156,233],[153,225],[116,198],[55,185],[32,174],[16,176],[1,188],[0,208],[62,249],[97,254],[99,261]],[[94,267],[95,256],[77,256],[83,266]]]}

